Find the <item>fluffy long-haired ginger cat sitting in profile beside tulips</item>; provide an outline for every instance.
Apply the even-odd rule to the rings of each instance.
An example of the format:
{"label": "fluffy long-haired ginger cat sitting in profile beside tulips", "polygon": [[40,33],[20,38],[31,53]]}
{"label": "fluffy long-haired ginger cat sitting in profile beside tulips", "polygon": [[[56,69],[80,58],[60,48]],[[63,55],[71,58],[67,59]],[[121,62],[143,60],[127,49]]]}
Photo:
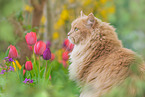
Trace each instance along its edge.
{"label": "fluffy long-haired ginger cat sitting in profile beside tulips", "polygon": [[144,79],[144,61],[124,48],[115,28],[93,13],[86,16],[81,12],[71,24],[68,39],[75,45],[70,53],[69,77],[81,87],[80,97],[101,97],[131,76]]}

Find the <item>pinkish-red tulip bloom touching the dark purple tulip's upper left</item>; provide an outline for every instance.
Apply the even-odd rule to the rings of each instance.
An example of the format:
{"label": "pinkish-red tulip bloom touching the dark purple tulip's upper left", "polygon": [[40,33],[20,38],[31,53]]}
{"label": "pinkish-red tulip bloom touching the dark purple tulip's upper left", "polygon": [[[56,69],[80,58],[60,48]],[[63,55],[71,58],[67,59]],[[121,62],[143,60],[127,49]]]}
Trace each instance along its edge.
{"label": "pinkish-red tulip bloom touching the dark purple tulip's upper left", "polygon": [[34,52],[36,55],[43,55],[45,49],[46,49],[46,44],[43,41],[38,41],[34,45]]}

